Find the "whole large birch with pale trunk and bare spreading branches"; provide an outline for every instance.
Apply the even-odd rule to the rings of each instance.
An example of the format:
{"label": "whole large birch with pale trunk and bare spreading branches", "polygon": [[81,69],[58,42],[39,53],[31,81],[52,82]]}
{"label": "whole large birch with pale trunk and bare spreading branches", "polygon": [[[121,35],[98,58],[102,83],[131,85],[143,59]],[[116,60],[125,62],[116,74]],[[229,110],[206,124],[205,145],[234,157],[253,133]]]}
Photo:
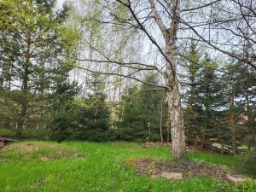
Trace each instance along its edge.
{"label": "whole large birch with pale trunk and bare spreading branches", "polygon": [[[104,67],[96,69],[84,67],[84,70],[92,73],[119,76],[122,79],[133,79],[143,84],[148,84],[148,82],[141,79],[142,71],[155,70],[160,73],[165,79],[165,84],[154,85],[166,90],[172,126],[172,155],[174,158],[182,160],[185,155],[185,143],[179,90],[181,76],[179,73],[182,73],[183,66],[180,59],[184,57],[185,49],[188,48],[187,43],[193,39],[197,44],[206,48],[207,51],[213,50],[218,56],[229,55],[241,61],[244,65],[255,67],[251,58],[241,57],[229,50],[230,46],[234,49],[240,49],[241,40],[246,38],[249,38],[249,41],[253,41],[254,32],[251,29],[252,27],[247,27],[249,30],[246,33],[241,30],[245,26],[252,26],[254,18],[252,5],[250,3],[240,3],[240,1],[224,3],[224,1],[219,0],[111,0],[107,2],[96,1],[94,3],[96,3],[95,7],[101,10],[101,17],[92,15],[87,19],[92,24],[95,24],[95,22],[100,24],[102,31],[105,30],[105,44],[111,41],[110,34],[122,34],[125,36],[136,32],[137,37],[140,37],[138,38],[140,45],[148,49],[152,44],[153,46],[150,47],[152,50],[149,52],[157,53],[155,54],[156,56],[148,56],[148,59],[143,56],[141,59],[123,60],[108,56],[106,54],[108,49],[101,49],[103,51],[95,55],[95,58],[80,60],[94,61],[101,65],[113,65],[115,69],[113,71],[107,70],[106,72]],[[230,12],[230,5],[234,6],[240,14],[237,15]],[[245,8],[243,8],[244,6]],[[244,15],[244,13],[246,14]],[[248,24],[247,21],[249,21]],[[219,34],[222,34],[221,32],[226,32],[228,35],[224,38],[219,38]],[[129,35],[126,37],[128,41]],[[231,42],[233,39],[237,40],[237,44],[235,44],[235,41]],[[134,44],[134,42],[131,42],[131,44]],[[107,48],[108,46],[104,47]],[[150,64],[153,62],[154,64]],[[163,65],[160,64],[161,62]],[[122,70],[118,70],[120,68]],[[132,72],[131,69],[133,70]]]}

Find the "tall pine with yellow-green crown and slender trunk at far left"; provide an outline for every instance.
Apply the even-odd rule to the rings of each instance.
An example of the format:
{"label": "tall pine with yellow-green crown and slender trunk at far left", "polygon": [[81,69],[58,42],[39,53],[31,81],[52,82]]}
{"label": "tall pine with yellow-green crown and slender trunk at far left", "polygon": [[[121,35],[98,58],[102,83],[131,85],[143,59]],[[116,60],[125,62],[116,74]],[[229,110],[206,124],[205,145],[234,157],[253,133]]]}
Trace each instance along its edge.
{"label": "tall pine with yellow-green crown and slender trunk at far left", "polygon": [[3,0],[0,7],[2,59],[13,70],[11,88],[20,90],[15,98],[20,105],[16,132],[20,136],[30,102],[38,93],[50,91],[76,34],[63,27],[67,7],[55,11],[55,0]]}

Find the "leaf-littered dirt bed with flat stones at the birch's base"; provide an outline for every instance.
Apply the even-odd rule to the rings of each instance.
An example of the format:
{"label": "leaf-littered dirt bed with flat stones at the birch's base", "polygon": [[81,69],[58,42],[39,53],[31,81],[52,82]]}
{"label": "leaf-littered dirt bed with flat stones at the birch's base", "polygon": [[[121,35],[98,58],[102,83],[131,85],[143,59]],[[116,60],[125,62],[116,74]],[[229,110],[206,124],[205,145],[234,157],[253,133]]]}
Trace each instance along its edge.
{"label": "leaf-littered dirt bed with flat stones at the birch's base", "polygon": [[213,179],[234,182],[230,177],[237,176],[235,172],[231,172],[226,166],[212,165],[204,162],[183,161],[182,163],[166,163],[154,158],[143,158],[134,160],[133,163],[137,165],[137,175],[146,175],[148,177],[169,175],[169,178],[178,176],[177,179],[184,179],[198,175],[207,175]]}

